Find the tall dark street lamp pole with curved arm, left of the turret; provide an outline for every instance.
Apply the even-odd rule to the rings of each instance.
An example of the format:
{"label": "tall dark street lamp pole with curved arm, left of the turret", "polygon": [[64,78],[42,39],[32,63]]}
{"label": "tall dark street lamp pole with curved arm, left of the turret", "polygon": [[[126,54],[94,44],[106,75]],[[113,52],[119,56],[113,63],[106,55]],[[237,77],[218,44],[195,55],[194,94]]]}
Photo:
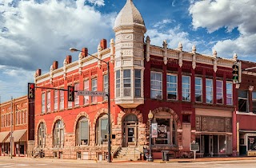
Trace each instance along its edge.
{"label": "tall dark street lamp pole with curved arm, left of the turret", "polygon": [[[79,49],[74,49],[74,48],[70,48],[70,52],[82,52],[85,53]],[[90,55],[91,57],[94,57],[93,55],[91,55],[90,53],[88,53],[88,55]],[[107,65],[107,76],[108,76],[108,93],[107,93],[107,115],[108,115],[108,119],[107,119],[107,126],[108,126],[108,131],[107,131],[107,135],[108,135],[108,157],[107,157],[107,162],[111,162],[111,140],[110,140],[110,131],[111,131],[111,124],[110,124],[110,62],[109,61],[103,61],[102,59],[99,59],[98,57],[94,57],[96,59],[98,59],[99,61],[104,62]]]}

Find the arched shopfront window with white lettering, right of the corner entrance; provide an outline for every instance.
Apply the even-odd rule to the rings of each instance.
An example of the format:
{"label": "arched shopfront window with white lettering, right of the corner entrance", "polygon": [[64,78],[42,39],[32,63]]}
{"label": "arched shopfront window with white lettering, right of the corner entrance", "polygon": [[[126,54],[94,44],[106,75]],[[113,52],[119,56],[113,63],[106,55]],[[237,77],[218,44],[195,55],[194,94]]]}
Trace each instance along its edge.
{"label": "arched shopfront window with white lettering, right of the corner entrance", "polygon": [[153,140],[155,145],[177,145],[177,126],[173,115],[158,112],[152,123],[158,123],[158,138]]}

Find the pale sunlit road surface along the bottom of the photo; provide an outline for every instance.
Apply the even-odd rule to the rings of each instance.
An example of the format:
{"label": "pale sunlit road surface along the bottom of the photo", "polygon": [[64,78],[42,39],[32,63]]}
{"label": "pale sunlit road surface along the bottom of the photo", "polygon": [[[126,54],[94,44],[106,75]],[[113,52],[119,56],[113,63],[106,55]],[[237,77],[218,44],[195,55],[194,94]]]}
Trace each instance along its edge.
{"label": "pale sunlit road surface along the bottom of the photo", "polygon": [[256,168],[256,161],[254,160],[239,160],[239,161],[218,161],[218,162],[82,162],[82,161],[63,161],[63,160],[31,160],[31,159],[1,159],[0,167],[11,168],[163,168],[163,167],[177,167],[177,168]]}

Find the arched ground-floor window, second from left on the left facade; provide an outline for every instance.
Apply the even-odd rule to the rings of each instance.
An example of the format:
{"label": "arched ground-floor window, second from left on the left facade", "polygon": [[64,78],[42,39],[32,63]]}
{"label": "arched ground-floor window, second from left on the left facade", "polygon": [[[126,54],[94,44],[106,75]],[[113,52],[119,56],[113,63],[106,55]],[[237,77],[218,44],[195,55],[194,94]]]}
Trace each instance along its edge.
{"label": "arched ground-floor window, second from left on the left facade", "polygon": [[54,125],[54,147],[64,147],[64,126],[61,120]]}

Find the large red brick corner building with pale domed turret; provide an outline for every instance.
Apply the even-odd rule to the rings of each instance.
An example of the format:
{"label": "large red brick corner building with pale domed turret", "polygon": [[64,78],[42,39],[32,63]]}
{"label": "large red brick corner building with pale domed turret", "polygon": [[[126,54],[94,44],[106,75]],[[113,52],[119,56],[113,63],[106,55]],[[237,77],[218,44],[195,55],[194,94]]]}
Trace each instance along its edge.
{"label": "large red brick corner building with pale domed turret", "polygon": [[[56,158],[104,158],[107,152],[107,101],[105,97],[77,96],[67,101],[67,89],[107,91],[110,82],[111,152],[125,158],[149,146],[150,122],[157,123],[152,138],[154,158],[162,150],[173,157],[190,154],[190,143],[199,143],[202,156],[236,154],[232,65],[236,61],[192,51],[150,45],[146,27],[134,3],[127,0],[114,23],[115,42],[98,45],[94,57],[87,49],[72,62],[67,56],[50,72],[35,73],[35,146]],[[163,39],[164,40],[164,39]]]}

